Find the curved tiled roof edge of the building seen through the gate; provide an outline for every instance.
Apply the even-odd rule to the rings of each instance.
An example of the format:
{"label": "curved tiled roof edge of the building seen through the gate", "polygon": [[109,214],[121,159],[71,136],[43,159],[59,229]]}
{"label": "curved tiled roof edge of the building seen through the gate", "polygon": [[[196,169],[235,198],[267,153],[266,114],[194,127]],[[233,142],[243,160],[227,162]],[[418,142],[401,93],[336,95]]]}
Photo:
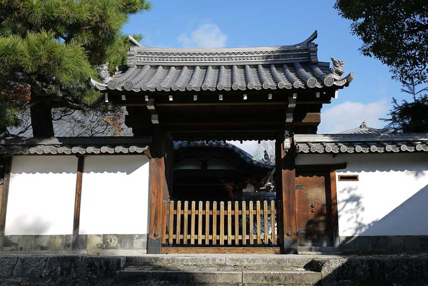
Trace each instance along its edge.
{"label": "curved tiled roof edge of the building seen through the gate", "polygon": [[239,147],[236,147],[228,142],[222,141],[174,141],[174,150],[185,148],[185,147],[218,147],[233,150],[236,154],[240,155],[246,162],[262,168],[274,169],[275,164],[262,161],[249,153],[245,152]]}

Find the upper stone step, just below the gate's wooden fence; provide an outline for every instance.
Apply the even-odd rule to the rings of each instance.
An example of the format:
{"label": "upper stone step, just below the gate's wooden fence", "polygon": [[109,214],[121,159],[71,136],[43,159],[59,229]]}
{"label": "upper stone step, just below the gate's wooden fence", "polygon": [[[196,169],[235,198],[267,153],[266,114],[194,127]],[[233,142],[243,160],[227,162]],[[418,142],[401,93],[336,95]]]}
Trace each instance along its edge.
{"label": "upper stone step, just below the gate's wooden fence", "polygon": [[285,266],[308,268],[312,266],[313,256],[310,255],[268,255],[268,256],[250,256],[250,255],[219,255],[219,256],[191,256],[191,255],[145,255],[126,257],[127,265],[141,266],[247,266],[247,265],[265,265],[265,266]]}

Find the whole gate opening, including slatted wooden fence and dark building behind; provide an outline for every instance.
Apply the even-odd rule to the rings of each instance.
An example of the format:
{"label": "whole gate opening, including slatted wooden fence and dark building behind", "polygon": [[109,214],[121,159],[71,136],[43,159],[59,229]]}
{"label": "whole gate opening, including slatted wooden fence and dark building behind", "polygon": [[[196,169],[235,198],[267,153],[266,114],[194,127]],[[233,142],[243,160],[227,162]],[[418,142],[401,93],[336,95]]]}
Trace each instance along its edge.
{"label": "whole gate opening, including slatted wooden fence and dark building behind", "polygon": [[171,201],[163,205],[162,252],[182,247],[279,252],[274,162],[223,141],[174,142],[173,161]]}

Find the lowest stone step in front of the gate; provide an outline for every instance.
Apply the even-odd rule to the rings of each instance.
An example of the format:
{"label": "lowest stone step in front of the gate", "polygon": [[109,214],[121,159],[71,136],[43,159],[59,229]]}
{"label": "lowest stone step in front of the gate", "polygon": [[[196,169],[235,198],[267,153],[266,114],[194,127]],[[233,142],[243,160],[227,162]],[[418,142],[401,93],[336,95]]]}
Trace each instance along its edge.
{"label": "lowest stone step in front of the gate", "polygon": [[184,270],[184,269],[145,269],[126,267],[117,271],[118,283],[126,281],[179,281],[186,284],[316,284],[321,279],[320,272],[300,270]]}

